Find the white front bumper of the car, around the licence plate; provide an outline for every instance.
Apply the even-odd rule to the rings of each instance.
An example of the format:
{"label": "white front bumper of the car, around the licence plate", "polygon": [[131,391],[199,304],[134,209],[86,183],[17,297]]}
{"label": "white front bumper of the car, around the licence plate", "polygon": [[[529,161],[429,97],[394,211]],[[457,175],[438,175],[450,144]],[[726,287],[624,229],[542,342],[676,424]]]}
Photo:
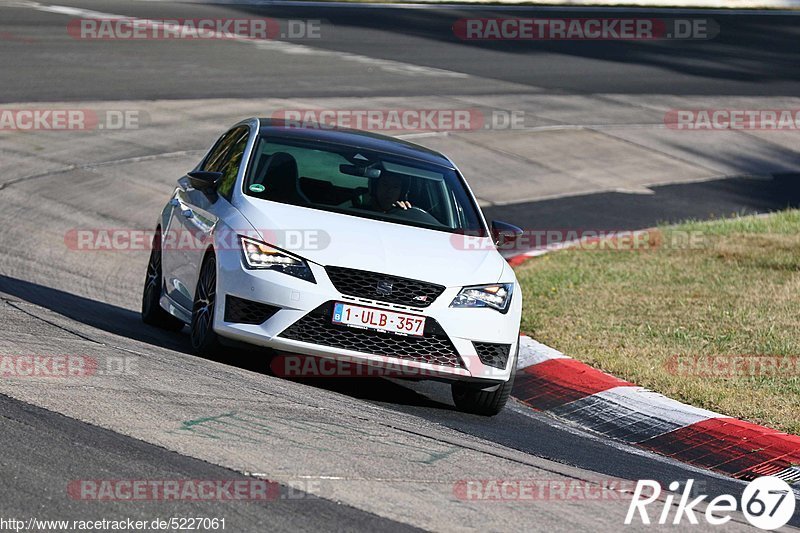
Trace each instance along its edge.
{"label": "white front bumper of the car, around the licence plate", "polygon": [[[342,294],[331,283],[324,267],[313,263],[310,267],[317,283],[271,270],[245,269],[241,254],[236,250],[222,251],[218,254],[218,305],[214,330],[223,337],[277,352],[394,365],[395,368],[409,369],[411,375],[416,373],[431,379],[508,380],[519,342],[522,303],[518,286],[515,285],[515,294],[506,314],[488,308],[450,308],[450,302],[461,287],[448,287],[430,306],[416,308]],[[278,310],[259,324],[226,321],[224,300],[228,296],[267,304]],[[334,326],[328,309],[337,301],[425,316],[425,335],[420,340]],[[364,336],[370,336],[369,342],[361,342]],[[484,364],[475,343],[508,346],[505,366],[496,368]],[[420,347],[423,352],[436,351],[439,356],[419,357]]]}

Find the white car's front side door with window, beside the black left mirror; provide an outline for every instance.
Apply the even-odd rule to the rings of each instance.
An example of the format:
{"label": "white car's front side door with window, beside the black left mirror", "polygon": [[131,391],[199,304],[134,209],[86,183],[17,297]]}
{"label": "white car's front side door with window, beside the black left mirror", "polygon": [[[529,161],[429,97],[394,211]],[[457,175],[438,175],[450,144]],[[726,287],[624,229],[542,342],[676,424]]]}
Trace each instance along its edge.
{"label": "white car's front side door with window, beside the black left mirror", "polygon": [[180,290],[181,305],[191,310],[200,266],[208,247],[213,242],[213,232],[220,218],[232,209],[230,205],[233,187],[241,167],[250,129],[247,126],[234,128],[220,141],[219,149],[209,154],[201,170],[221,172],[222,178],[217,194],[207,195],[192,188],[188,178],[178,182],[177,199],[179,214],[176,217],[184,242],[191,243],[180,247],[179,264],[176,268],[177,285]]}

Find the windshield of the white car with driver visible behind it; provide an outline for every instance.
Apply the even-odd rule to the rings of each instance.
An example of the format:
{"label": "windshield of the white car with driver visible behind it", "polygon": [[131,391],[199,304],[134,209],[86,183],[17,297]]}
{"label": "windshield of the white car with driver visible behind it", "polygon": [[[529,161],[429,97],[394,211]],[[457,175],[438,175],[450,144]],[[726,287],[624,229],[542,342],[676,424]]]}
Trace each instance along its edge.
{"label": "windshield of the white car with driver visible behind it", "polygon": [[485,235],[445,167],[332,143],[261,138],[244,182],[256,198],[452,233]]}

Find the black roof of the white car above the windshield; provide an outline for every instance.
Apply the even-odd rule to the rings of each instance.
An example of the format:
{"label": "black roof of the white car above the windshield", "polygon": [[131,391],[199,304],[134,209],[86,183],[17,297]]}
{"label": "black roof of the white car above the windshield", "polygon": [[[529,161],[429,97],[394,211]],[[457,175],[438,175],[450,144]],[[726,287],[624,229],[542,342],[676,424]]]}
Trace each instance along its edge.
{"label": "black roof of the white car above the windshield", "polygon": [[260,122],[260,133],[262,136],[340,144],[353,148],[363,148],[365,150],[408,157],[455,169],[453,162],[445,155],[418,144],[404,141],[396,137],[389,137],[388,135],[347,128],[322,129],[304,128],[295,125],[287,126],[286,122],[283,120],[270,118],[261,118],[258,120]]}

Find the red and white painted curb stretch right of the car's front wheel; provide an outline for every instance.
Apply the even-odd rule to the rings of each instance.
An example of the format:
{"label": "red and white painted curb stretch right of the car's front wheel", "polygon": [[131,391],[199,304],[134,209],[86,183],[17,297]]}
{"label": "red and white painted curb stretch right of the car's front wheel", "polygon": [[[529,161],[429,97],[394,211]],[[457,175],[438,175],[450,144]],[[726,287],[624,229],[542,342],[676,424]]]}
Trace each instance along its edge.
{"label": "red and white painted curb stretch right of the car's front wheel", "polygon": [[750,480],[800,484],[800,437],[667,398],[520,337],[513,396],[610,439]]}

